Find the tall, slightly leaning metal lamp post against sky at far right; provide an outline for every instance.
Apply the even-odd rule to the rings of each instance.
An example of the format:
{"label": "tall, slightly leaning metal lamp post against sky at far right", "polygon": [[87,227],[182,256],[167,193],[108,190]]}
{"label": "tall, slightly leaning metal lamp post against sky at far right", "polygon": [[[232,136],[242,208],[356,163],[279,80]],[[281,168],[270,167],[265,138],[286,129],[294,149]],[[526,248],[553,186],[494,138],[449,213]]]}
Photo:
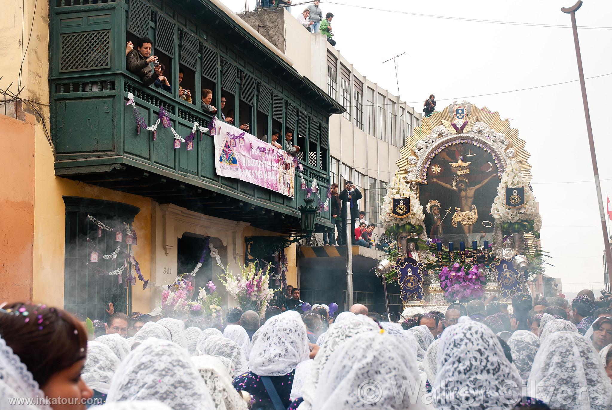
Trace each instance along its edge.
{"label": "tall, slightly leaning metal lamp post against sky at far right", "polygon": [[[599,170],[597,170],[597,156],[595,156],[595,143],[593,142],[593,129],[591,127],[591,114],[589,114],[589,102],[586,99],[586,85],[584,83],[584,71],[582,68],[582,57],[580,56],[580,43],[578,42],[578,28],[576,26],[576,11],[582,6],[582,0],[578,0],[572,7],[562,7],[561,11],[572,17],[572,31],[574,36],[574,47],[576,48],[576,59],[578,61],[578,75],[580,76],[580,88],[582,89],[582,103],[584,105],[584,118],[586,120],[586,133],[589,137],[589,148],[591,148],[591,161],[593,163],[593,175],[595,177],[595,190],[599,202],[599,216],[602,221],[603,245],[606,252],[606,265],[612,267],[612,252],[610,241],[606,230],[605,213],[603,212],[602,187],[599,183]],[[608,281],[610,281],[610,270],[608,270]]]}

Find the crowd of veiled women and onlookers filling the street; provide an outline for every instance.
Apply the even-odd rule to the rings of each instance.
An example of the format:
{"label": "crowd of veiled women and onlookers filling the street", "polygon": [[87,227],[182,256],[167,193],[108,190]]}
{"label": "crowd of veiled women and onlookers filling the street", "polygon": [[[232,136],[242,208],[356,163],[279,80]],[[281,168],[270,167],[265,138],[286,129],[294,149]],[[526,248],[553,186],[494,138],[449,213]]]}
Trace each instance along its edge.
{"label": "crowd of veiled women and onlookers filling the street", "polygon": [[0,308],[0,408],[610,409],[610,299],[562,301],[517,294],[509,314],[472,300],[401,323],[358,304],[335,317],[230,308],[222,328],[113,313],[103,335],[12,303]]}

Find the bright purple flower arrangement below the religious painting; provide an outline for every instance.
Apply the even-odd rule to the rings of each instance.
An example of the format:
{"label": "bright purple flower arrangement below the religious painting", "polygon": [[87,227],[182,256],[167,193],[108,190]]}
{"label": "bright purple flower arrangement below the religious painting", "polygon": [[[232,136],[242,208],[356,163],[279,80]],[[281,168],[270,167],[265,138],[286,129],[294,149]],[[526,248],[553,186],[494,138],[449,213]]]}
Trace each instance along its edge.
{"label": "bright purple flower arrangement below the religious painting", "polygon": [[466,267],[457,262],[450,268],[443,267],[438,276],[446,300],[461,302],[481,297],[487,285],[487,275],[482,268],[483,265],[476,264],[466,271]]}

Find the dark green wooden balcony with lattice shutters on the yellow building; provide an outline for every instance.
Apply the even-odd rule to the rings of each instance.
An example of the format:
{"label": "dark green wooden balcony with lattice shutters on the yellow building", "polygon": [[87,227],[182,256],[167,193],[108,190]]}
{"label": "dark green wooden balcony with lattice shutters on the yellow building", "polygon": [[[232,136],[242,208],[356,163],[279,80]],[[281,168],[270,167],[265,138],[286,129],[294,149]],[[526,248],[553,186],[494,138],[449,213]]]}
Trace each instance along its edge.
{"label": "dark green wooden balcony with lattice shutters on the yellow building", "polygon": [[[190,2],[200,10],[194,12],[202,16],[197,23],[185,17],[189,14],[181,9],[184,2],[178,3],[53,0],[50,88],[56,175],[250,222],[261,229],[299,232],[298,207],[304,205],[306,192],[300,189],[297,175],[293,199],[255,184],[218,177],[213,137],[207,133],[203,140],[196,137],[193,150],[187,151],[184,143],[174,149],[170,128],[161,124],[156,140],[146,129],[138,134],[132,105],[125,105],[128,93],[134,94],[147,124],[155,123],[163,107],[171,126],[185,137],[194,122],[206,126],[211,120],[200,104],[178,98],[177,72],[179,68],[189,70],[193,82],[186,88],[195,91],[194,101],[200,101],[200,87],[212,84],[214,105],[219,107],[222,93],[230,96],[236,122],[250,122],[253,134],[271,135],[275,127],[284,135],[285,129],[293,129],[296,142],[304,148],[300,155],[304,177],[308,184],[318,182],[323,199],[329,184],[327,122],[330,114],[343,108],[262,48],[212,2]],[[140,18],[140,26],[135,25],[134,16]],[[208,34],[211,26],[239,45],[228,49],[223,39]],[[159,43],[154,53],[165,53],[173,93],[144,86],[125,70],[125,42],[135,35],[148,35]],[[166,37],[173,40],[164,42]],[[242,40],[235,43],[237,39]],[[90,55],[75,56],[84,45]],[[191,55],[185,56],[188,46]],[[320,214],[319,224],[319,229],[332,226],[329,212]]]}

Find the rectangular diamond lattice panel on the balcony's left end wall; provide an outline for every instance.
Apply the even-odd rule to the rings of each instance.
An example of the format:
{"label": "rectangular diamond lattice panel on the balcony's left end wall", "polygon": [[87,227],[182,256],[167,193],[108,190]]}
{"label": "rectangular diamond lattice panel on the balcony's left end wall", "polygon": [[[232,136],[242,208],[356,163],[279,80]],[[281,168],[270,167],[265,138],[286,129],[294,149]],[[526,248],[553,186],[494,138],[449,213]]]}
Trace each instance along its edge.
{"label": "rectangular diamond lattice panel on the balcony's left end wall", "polygon": [[110,67],[110,39],[110,30],[62,34],[59,72]]}

